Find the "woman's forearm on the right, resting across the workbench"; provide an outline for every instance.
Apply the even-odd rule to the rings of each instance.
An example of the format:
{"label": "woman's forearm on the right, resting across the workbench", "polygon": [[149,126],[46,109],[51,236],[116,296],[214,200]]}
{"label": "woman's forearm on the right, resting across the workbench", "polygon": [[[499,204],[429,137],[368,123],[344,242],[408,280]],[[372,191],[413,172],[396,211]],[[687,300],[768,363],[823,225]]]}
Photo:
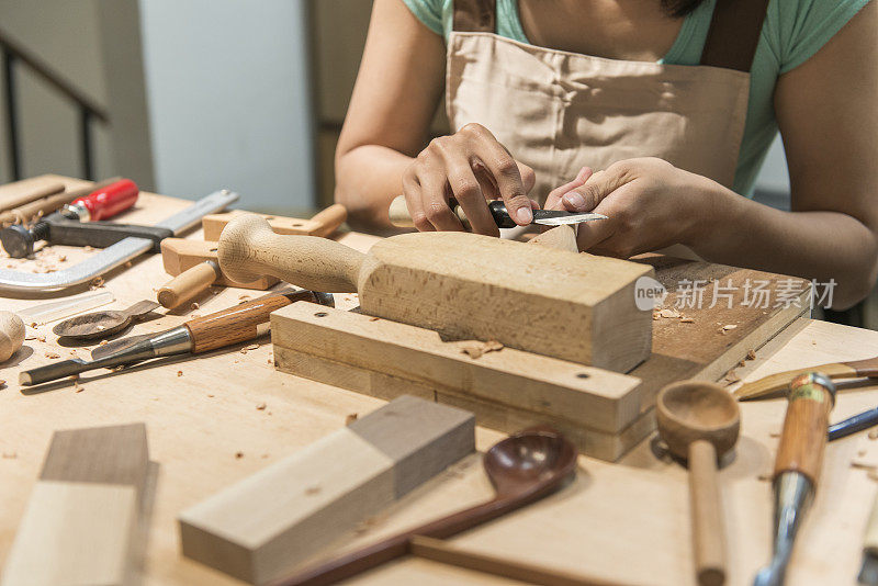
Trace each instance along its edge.
{"label": "woman's forearm on the right, resting across the workbench", "polygon": [[711,262],[834,281],[832,306],[864,298],[878,273],[876,235],[838,212],[783,212],[713,184],[706,222],[687,243]]}

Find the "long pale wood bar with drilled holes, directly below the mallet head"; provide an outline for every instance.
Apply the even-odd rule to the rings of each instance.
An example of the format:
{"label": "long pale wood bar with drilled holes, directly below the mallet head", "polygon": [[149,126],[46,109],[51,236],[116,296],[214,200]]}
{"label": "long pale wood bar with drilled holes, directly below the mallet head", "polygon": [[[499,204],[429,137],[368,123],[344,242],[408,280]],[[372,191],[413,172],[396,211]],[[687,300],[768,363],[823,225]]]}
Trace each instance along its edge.
{"label": "long pale wood bar with drilled holes, directly below the mallet head", "polygon": [[617,432],[640,415],[640,379],[514,348],[472,358],[473,341],[313,303],[271,314],[271,341],[327,360],[417,382],[437,391]]}

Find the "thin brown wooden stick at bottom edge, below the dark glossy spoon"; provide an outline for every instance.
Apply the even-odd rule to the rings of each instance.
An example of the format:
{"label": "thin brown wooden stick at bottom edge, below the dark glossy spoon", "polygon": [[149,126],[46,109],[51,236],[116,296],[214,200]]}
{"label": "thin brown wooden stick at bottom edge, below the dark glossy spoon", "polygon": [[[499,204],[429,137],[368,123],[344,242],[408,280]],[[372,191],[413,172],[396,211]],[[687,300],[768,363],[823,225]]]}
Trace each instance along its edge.
{"label": "thin brown wooden stick at bottom edge, below the dark glossy spoon", "polygon": [[415,536],[410,544],[412,555],[432,560],[442,564],[474,570],[485,574],[493,574],[505,578],[540,584],[543,586],[617,586],[618,583],[609,582],[593,576],[573,574],[562,570],[550,570],[534,564],[517,562],[489,555],[466,551],[452,545],[441,539]]}

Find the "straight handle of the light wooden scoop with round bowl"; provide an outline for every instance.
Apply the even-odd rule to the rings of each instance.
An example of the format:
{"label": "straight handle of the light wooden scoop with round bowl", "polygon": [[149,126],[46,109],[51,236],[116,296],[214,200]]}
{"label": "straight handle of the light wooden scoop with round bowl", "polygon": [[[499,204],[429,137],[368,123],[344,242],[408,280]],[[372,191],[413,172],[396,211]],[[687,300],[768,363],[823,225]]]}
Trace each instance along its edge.
{"label": "straight handle of the light wooden scoop with round bowl", "polygon": [[698,583],[722,584],[725,581],[725,526],[720,507],[717,450],[707,440],[689,444],[689,496]]}

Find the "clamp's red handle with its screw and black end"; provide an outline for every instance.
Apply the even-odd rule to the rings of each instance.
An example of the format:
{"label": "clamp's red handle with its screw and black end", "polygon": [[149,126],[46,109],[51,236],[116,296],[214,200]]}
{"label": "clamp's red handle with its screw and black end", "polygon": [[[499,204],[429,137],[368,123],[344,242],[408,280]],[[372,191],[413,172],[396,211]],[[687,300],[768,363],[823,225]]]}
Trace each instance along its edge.
{"label": "clamp's red handle with its screw and black end", "polygon": [[[80,244],[79,241],[71,241],[69,237],[65,237],[70,232],[66,229],[68,226],[76,229],[80,227],[78,225],[80,222],[97,222],[113,217],[131,209],[137,202],[138,194],[139,191],[134,181],[122,179],[65,204],[60,211],[44,217],[30,229],[21,224],[3,228],[0,230],[0,243],[2,243],[3,249],[12,258],[31,256],[34,251],[34,245],[40,240],[46,240],[49,244]],[[115,244],[122,238],[124,236],[109,244]],[[88,244],[99,248],[108,246],[104,238],[101,238],[100,241],[98,239],[89,239]]]}

